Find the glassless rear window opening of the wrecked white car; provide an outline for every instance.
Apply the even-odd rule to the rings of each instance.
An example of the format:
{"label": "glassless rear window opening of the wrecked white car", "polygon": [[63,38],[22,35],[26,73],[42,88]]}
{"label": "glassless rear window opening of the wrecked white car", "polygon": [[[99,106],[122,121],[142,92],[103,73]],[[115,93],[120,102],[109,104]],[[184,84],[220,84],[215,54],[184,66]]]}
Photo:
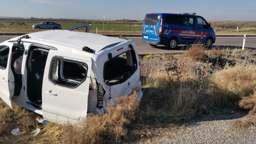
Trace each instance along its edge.
{"label": "glassless rear window opening of the wrecked white car", "polygon": [[133,50],[112,58],[104,64],[104,80],[108,85],[125,82],[137,69]]}

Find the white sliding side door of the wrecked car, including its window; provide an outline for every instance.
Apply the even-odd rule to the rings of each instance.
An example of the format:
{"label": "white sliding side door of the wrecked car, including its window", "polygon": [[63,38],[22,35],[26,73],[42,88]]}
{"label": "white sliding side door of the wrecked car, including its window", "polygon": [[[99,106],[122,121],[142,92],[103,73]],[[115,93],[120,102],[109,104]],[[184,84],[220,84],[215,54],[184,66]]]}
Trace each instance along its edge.
{"label": "white sliding side door of the wrecked car, including its window", "polygon": [[79,120],[86,116],[90,71],[89,57],[49,51],[42,87],[45,120],[58,123]]}

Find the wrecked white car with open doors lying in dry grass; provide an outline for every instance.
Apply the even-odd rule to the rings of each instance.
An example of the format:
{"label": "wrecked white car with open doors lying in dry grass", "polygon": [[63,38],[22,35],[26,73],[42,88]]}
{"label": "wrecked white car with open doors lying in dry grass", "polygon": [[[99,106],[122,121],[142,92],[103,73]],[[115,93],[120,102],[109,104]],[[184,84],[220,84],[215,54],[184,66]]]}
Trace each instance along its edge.
{"label": "wrecked white car with open doors lying in dry grass", "polygon": [[140,64],[132,40],[49,30],[0,44],[0,98],[45,120],[76,121],[104,114],[116,98],[139,88]]}

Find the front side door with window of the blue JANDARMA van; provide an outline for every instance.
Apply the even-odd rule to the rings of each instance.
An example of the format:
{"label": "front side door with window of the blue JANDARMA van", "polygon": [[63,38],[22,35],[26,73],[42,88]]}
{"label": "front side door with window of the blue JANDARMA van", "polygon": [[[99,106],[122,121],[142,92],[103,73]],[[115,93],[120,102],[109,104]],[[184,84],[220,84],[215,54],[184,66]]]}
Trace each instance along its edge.
{"label": "front side door with window of the blue JANDARMA van", "polygon": [[197,17],[197,33],[200,41],[204,41],[209,34],[209,28],[207,28],[207,25],[207,22],[203,18]]}

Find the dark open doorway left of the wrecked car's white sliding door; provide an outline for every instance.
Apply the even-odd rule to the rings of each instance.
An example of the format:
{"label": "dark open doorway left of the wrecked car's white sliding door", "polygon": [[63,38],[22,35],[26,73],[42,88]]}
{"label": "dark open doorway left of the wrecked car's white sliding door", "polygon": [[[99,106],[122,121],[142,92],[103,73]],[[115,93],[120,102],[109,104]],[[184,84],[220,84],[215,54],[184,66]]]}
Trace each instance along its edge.
{"label": "dark open doorway left of the wrecked car's white sliding door", "polygon": [[48,50],[31,46],[27,60],[27,96],[34,107],[41,109],[42,86]]}

